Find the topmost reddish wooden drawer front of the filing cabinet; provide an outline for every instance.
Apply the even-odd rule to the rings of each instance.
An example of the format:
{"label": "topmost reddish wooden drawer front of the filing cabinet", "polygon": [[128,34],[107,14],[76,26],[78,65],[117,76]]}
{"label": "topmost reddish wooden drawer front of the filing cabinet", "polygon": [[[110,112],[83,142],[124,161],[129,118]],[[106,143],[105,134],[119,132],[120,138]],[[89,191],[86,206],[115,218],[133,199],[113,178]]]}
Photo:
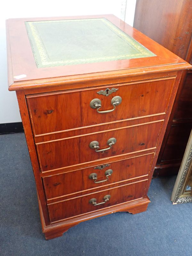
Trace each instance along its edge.
{"label": "topmost reddish wooden drawer front of the filing cabinet", "polygon": [[[108,86],[109,89],[118,90],[108,96],[97,93],[106,90],[106,86],[29,95],[27,102],[34,133],[45,134],[164,113],[173,83],[174,78],[167,78],[137,84],[114,84]],[[120,96],[122,102],[112,112],[102,114],[90,107],[93,99],[99,99],[101,108],[98,111],[112,110],[111,100],[115,96]]]}

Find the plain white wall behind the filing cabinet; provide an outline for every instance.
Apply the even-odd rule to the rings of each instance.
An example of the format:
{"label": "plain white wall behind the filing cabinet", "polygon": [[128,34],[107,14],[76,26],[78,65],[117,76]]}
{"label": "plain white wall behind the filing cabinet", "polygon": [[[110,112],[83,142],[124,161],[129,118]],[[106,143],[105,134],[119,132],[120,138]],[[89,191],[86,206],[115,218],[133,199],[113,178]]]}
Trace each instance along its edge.
{"label": "plain white wall behind the filing cabinet", "polygon": [[20,122],[15,92],[8,91],[5,20],[25,17],[114,14],[133,25],[136,0],[8,0],[0,10],[0,124]]}

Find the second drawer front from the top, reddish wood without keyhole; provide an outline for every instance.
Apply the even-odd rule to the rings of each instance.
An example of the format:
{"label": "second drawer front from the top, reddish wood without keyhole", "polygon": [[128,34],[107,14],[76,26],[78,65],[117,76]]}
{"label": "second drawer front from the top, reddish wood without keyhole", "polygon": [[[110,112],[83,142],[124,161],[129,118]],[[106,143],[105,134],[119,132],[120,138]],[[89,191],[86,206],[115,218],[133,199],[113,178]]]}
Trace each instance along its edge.
{"label": "second drawer front from the top, reddish wood without keyhole", "polygon": [[[44,172],[148,148],[156,148],[162,122],[160,120],[117,130],[36,143],[41,170]],[[116,143],[111,148],[107,144],[110,138],[116,138]],[[98,141],[100,149],[109,149],[96,152],[95,149],[89,147],[92,141]]]}

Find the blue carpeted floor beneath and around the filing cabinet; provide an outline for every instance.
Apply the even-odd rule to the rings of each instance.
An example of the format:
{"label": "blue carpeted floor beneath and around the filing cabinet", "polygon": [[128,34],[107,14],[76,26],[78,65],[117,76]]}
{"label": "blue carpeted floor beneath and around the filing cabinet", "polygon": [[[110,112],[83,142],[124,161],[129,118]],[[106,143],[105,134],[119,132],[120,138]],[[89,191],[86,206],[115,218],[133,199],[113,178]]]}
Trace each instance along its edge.
{"label": "blue carpeted floor beneath and around the filing cabinet", "polygon": [[46,241],[24,133],[0,135],[1,256],[192,255],[192,204],[172,205],[176,177],[152,180],[148,210],[89,220]]}

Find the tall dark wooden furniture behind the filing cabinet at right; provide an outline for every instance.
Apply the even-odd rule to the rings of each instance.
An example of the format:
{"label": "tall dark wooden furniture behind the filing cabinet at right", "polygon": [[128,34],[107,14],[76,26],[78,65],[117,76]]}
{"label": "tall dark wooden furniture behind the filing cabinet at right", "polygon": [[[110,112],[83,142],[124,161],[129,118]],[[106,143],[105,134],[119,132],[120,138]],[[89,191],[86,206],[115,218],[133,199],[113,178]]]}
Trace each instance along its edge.
{"label": "tall dark wooden furniture behind the filing cabinet at right", "polygon": [[[192,63],[192,1],[137,0],[134,28]],[[192,71],[181,77],[158,156],[156,175],[177,174],[192,129]]]}

